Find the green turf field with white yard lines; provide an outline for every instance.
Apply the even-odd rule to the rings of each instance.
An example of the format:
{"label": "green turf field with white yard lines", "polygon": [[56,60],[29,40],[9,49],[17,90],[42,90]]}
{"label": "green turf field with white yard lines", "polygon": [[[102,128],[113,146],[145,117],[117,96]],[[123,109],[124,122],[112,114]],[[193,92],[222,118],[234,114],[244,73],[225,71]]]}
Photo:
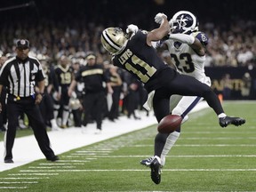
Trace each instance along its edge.
{"label": "green turf field with white yard lines", "polygon": [[243,126],[221,128],[212,109],[190,116],[154,184],[140,160],[153,155],[156,127],[0,172],[0,191],[256,191],[256,102],[223,104]]}

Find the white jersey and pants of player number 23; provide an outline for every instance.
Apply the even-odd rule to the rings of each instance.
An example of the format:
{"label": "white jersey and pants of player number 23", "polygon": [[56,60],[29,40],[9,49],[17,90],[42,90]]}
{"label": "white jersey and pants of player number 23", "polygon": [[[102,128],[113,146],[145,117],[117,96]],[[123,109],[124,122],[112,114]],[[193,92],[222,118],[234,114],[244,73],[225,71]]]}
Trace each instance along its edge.
{"label": "white jersey and pants of player number 23", "polygon": [[[202,44],[208,43],[207,36],[202,32],[192,33],[191,36],[195,36]],[[210,77],[204,73],[204,61],[205,55],[199,56],[188,44],[181,44],[174,42],[172,39],[164,41],[167,44],[168,50],[171,54],[172,63],[175,64],[180,74],[187,76],[193,76],[198,81],[211,86]],[[150,110],[152,108],[152,100],[155,92],[148,94],[148,100],[143,105],[144,108]],[[196,96],[182,96],[172,95],[170,99],[170,111],[172,115],[178,115],[183,117],[182,123],[188,120],[188,113],[196,104],[203,100],[203,98]]]}

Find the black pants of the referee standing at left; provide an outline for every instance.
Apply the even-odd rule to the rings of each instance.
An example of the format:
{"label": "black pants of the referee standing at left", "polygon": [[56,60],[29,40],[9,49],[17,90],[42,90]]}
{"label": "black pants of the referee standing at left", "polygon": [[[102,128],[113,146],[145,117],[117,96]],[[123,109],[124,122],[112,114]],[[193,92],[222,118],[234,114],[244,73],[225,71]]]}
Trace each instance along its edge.
{"label": "black pants of the referee standing at left", "polygon": [[[22,112],[28,116],[28,122],[33,129],[36,141],[44,156],[47,159],[51,159],[52,156],[55,156],[52,148],[50,147],[50,140],[46,132],[43,117],[41,116],[39,107],[35,104],[35,99],[32,96],[17,100],[15,96],[9,94],[6,108],[8,126],[4,137],[4,160],[12,159],[12,147],[16,136],[18,117]],[[26,150],[26,148],[24,148],[24,150]]]}

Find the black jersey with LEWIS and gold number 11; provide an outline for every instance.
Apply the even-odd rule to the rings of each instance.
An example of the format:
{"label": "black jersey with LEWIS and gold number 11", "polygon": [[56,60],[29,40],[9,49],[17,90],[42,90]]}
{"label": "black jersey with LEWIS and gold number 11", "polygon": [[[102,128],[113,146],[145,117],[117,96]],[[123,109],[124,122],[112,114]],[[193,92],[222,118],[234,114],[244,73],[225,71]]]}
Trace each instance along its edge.
{"label": "black jersey with LEWIS and gold number 11", "polygon": [[[163,86],[163,84],[159,84],[159,80],[163,78],[160,74],[164,68],[169,68],[157,56],[156,50],[152,46],[148,46],[147,34],[140,30],[128,41],[124,51],[113,58],[113,63],[132,73],[145,84],[148,92]],[[174,74],[173,70],[168,76],[173,77]]]}

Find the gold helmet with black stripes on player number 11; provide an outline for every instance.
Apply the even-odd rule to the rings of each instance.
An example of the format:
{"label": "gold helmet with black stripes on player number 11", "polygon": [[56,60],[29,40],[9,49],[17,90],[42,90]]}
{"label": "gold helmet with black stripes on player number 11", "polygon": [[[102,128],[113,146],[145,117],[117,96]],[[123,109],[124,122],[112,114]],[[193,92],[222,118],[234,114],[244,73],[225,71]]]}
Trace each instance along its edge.
{"label": "gold helmet with black stripes on player number 11", "polygon": [[122,52],[127,41],[128,35],[121,28],[106,28],[101,35],[101,44],[113,55]]}

